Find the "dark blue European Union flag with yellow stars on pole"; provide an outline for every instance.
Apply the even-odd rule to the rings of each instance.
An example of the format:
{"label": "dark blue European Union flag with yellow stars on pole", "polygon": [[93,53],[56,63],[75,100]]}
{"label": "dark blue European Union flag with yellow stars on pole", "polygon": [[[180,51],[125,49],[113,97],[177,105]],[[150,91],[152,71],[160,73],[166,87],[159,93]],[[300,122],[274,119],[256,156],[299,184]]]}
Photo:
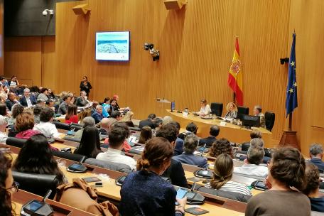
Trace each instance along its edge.
{"label": "dark blue European Union flag with yellow stars on pole", "polygon": [[291,44],[291,57],[289,58],[288,85],[286,96],[286,117],[298,107],[297,103],[297,81],[296,81],[296,33],[293,33],[293,43]]}

